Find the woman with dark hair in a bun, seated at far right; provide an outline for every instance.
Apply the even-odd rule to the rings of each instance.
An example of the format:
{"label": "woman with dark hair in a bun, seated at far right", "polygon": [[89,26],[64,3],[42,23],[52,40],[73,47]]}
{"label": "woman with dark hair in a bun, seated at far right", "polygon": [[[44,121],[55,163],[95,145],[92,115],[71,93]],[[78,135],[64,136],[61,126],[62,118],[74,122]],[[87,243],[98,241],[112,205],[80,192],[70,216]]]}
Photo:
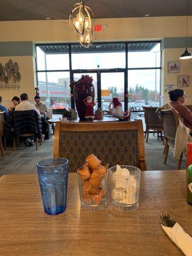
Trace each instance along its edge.
{"label": "woman with dark hair in a bun, seated at far right", "polygon": [[179,112],[180,116],[184,120],[184,125],[189,129],[192,129],[192,113],[191,111],[184,105],[186,102],[186,93],[182,89],[175,89],[169,92],[170,95],[170,105],[172,108]]}

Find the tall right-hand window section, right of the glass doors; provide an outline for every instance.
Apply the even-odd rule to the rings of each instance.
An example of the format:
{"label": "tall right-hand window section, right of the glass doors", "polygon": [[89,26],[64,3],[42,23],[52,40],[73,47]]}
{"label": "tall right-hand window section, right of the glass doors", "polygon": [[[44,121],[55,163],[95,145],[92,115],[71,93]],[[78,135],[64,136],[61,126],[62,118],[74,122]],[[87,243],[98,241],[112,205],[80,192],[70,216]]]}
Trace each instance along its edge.
{"label": "tall right-hand window section, right of the glass doors", "polygon": [[129,106],[134,110],[141,110],[143,106],[159,106],[160,44],[139,42],[134,49],[130,43],[127,60]]}

